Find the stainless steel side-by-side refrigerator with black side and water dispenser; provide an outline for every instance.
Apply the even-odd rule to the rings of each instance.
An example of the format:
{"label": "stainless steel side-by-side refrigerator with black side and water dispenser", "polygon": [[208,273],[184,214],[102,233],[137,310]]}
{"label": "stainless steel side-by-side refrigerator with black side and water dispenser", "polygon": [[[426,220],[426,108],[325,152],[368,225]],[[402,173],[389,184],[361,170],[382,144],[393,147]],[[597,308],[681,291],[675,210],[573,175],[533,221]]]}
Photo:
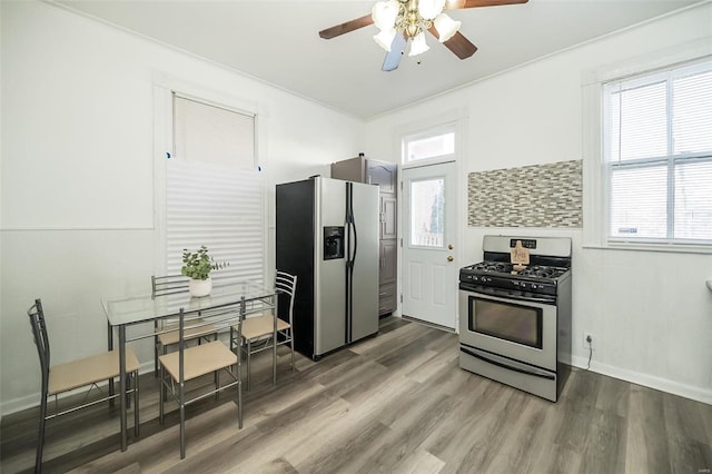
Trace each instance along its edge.
{"label": "stainless steel side-by-side refrigerator with black side and water dispenser", "polygon": [[[295,348],[318,359],[378,332],[378,187],[277,185],[277,269],[297,276]],[[280,312],[281,313],[281,312]]]}

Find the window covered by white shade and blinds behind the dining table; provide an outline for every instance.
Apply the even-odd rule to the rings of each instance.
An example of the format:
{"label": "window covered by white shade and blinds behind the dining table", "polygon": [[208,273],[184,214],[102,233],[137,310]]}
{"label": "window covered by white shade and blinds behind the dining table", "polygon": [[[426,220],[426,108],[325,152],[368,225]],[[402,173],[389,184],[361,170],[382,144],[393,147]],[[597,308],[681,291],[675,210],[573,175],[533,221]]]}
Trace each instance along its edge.
{"label": "window covered by white shade and blinds behind the dining table", "polygon": [[230,265],[216,280],[264,279],[263,184],[255,116],[172,95],[174,154],[166,160],[166,270],[205,245]]}

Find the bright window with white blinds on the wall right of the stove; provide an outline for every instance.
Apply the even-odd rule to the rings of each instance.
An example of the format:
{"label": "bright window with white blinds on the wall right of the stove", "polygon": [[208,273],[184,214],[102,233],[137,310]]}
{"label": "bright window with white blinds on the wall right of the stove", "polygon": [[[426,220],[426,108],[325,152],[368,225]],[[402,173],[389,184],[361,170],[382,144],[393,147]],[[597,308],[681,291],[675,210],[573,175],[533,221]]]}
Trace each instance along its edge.
{"label": "bright window with white blinds on the wall right of the stove", "polygon": [[603,86],[610,243],[712,244],[712,61]]}

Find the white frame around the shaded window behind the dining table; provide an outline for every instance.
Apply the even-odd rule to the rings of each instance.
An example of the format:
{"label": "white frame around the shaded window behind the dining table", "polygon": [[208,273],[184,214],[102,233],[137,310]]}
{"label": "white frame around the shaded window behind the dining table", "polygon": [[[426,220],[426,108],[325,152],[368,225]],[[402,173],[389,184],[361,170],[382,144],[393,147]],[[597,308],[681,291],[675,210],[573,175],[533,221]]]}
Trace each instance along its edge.
{"label": "white frame around the shaded window behind the dining table", "polygon": [[[154,79],[154,273],[165,275],[168,263],[166,258],[166,154],[174,154],[174,93],[179,97],[195,99],[207,105],[253,115],[255,118],[255,167],[265,168],[266,146],[266,110],[257,102],[235,98],[227,93],[201,88],[179,79],[158,75]],[[261,240],[264,261],[261,268],[263,282],[274,278],[270,269],[270,256],[268,255],[268,226],[269,214],[267,211],[268,179],[261,172],[260,208],[263,213]],[[196,249],[192,249],[194,251]],[[214,255],[219,259],[219,256]]]}

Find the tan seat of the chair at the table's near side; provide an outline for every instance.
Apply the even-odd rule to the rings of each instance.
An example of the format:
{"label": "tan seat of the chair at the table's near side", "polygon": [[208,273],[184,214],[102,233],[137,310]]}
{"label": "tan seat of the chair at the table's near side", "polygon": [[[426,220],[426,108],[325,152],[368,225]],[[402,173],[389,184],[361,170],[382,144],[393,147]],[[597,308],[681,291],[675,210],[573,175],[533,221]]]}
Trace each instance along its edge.
{"label": "tan seat of the chair at the table's near side", "polygon": [[[180,352],[165,354],[159,361],[174,381],[180,378]],[[188,347],[184,349],[184,381],[191,381],[235,364],[237,356],[219,340]]]}

